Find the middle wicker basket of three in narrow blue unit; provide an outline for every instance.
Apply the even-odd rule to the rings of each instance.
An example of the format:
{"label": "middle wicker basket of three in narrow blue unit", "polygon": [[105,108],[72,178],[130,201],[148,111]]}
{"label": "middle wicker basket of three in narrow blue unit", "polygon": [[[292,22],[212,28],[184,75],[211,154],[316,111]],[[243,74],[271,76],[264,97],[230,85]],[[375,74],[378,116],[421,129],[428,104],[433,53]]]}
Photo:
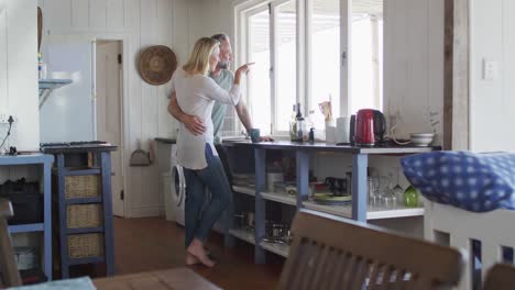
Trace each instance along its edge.
{"label": "middle wicker basket of three in narrow blue unit", "polygon": [[67,227],[96,227],[101,226],[102,220],[102,204],[72,204],[67,209]]}

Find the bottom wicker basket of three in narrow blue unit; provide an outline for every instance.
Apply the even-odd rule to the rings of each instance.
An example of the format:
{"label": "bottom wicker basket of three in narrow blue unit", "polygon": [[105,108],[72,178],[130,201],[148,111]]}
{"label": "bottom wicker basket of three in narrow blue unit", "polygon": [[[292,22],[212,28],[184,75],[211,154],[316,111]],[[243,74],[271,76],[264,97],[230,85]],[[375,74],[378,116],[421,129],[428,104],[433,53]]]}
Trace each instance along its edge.
{"label": "bottom wicker basket of three in narrow blue unit", "polygon": [[72,259],[102,257],[103,234],[80,234],[68,236],[68,257]]}

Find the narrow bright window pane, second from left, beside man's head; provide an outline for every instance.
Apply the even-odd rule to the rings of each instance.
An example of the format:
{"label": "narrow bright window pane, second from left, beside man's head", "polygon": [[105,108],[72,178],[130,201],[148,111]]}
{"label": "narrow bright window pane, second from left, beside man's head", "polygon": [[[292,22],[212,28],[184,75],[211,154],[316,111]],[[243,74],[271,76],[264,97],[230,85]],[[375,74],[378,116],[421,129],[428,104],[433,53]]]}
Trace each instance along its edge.
{"label": "narrow bright window pane, second from left, beside man's head", "polygon": [[297,15],[296,2],[289,1],[276,11],[276,111],[275,130],[288,131],[292,105],[297,102]]}

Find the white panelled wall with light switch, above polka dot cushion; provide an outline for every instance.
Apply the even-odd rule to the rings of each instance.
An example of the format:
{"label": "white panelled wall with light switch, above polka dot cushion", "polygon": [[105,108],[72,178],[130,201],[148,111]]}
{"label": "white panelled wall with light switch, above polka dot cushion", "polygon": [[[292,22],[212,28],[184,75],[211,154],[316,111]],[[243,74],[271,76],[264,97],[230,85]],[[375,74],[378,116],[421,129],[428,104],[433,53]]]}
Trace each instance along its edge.
{"label": "white panelled wall with light switch, above polka dot cushion", "polygon": [[[515,152],[515,1],[471,0],[470,146],[474,152]],[[483,80],[483,59],[498,64]]]}

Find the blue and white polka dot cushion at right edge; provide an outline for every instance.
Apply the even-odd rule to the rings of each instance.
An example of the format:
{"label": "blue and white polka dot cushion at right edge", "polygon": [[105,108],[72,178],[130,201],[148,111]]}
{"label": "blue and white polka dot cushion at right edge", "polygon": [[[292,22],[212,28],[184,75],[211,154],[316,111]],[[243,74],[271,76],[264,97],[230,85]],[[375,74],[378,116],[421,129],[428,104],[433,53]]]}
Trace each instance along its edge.
{"label": "blue and white polka dot cushion at right edge", "polygon": [[515,209],[515,154],[432,152],[401,164],[428,200],[474,212]]}

